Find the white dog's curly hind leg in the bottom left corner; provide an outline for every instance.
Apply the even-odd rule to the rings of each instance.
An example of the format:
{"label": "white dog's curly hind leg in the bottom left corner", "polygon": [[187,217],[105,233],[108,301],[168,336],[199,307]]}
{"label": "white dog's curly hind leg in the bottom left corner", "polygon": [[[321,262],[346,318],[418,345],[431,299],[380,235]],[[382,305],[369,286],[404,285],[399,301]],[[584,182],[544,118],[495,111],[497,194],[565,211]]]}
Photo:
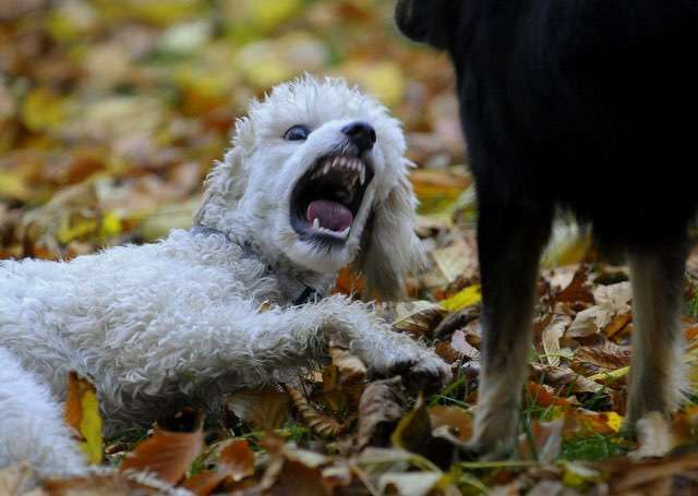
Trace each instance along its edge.
{"label": "white dog's curly hind leg in the bottom left corner", "polygon": [[82,473],[86,465],[48,388],[0,348],[0,467],[29,461],[40,476]]}

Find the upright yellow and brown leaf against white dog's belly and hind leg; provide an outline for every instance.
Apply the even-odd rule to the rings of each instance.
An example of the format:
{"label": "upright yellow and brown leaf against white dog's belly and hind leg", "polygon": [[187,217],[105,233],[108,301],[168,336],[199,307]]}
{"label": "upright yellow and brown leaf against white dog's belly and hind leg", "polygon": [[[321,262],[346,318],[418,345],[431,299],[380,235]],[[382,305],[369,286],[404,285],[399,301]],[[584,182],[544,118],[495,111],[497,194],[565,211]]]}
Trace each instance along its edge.
{"label": "upright yellow and brown leaf against white dog's belly and hind leg", "polygon": [[88,462],[101,463],[101,415],[97,391],[89,380],[77,377],[75,372],[70,373],[68,380],[65,423],[77,434],[80,448],[87,456]]}

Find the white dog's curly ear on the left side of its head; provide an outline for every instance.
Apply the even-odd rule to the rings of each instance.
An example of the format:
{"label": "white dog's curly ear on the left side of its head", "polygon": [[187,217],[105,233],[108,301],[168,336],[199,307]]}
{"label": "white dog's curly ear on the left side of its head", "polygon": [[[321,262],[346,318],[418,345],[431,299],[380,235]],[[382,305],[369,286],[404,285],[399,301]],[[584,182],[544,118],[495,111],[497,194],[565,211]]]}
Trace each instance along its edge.
{"label": "white dog's curly ear on the left side of its head", "polygon": [[252,140],[251,123],[244,118],[238,120],[232,140],[232,148],[222,161],[217,161],[204,182],[204,199],[194,216],[194,223],[220,230],[225,229],[225,215],[233,210],[242,198],[248,184],[244,171],[244,150]]}

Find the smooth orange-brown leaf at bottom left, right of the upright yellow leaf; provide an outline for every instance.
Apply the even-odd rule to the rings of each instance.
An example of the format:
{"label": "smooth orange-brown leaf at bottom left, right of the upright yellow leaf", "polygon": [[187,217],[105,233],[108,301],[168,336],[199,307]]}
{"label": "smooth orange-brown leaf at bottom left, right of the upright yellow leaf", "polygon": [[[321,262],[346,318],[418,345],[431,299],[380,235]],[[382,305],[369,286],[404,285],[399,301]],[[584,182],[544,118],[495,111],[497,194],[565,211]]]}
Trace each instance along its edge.
{"label": "smooth orange-brown leaf at bottom left, right of the upright yellow leaf", "polygon": [[147,471],[177,484],[198,456],[203,432],[157,434],[141,443],[121,463],[120,470]]}

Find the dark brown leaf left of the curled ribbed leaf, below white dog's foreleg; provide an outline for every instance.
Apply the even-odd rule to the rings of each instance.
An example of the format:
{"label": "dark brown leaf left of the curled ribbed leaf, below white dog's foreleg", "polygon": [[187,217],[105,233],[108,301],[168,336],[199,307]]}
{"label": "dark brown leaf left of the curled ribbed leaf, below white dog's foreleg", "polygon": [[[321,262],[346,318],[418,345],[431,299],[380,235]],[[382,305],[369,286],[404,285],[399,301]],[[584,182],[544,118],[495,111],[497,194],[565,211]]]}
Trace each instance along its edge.
{"label": "dark brown leaf left of the curled ribbed leaf, below white dog's foreleg", "polygon": [[290,413],[288,395],[270,387],[237,391],[227,404],[238,418],[262,430],[280,427]]}

